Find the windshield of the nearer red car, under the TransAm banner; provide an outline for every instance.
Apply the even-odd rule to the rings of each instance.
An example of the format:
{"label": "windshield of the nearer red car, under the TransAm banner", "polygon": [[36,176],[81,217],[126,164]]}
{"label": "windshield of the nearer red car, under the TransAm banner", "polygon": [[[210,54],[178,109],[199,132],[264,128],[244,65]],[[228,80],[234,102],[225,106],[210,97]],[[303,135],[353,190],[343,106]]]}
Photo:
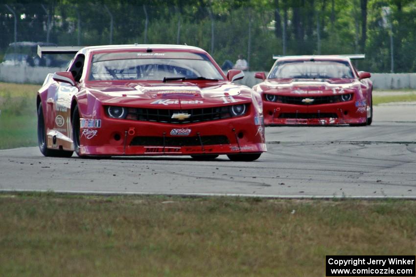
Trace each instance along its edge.
{"label": "windshield of the nearer red car, under the TransAm banner", "polygon": [[89,80],[223,79],[208,56],[190,52],[121,52],[92,56]]}

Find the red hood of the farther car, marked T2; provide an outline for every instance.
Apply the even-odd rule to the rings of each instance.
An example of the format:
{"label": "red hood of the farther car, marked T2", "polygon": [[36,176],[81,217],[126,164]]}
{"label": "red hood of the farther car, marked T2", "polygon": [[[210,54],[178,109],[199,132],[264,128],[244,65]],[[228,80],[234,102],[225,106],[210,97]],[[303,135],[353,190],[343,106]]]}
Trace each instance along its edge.
{"label": "red hood of the farther car, marked T2", "polygon": [[281,95],[333,95],[352,93],[359,90],[360,82],[356,79],[279,79],[266,80],[256,90],[262,92],[278,92]]}

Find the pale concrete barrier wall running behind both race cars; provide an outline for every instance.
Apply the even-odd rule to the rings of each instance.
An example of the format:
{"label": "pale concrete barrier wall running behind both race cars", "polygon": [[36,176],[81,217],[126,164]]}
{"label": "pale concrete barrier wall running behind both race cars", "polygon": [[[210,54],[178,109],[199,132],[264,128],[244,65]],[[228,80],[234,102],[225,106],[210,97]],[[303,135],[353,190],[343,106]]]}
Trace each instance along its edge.
{"label": "pale concrete barrier wall running behind both race cars", "polygon": [[[66,68],[0,64],[0,81],[8,83],[42,84],[48,73],[64,70]],[[244,71],[244,75],[244,79],[236,83],[252,87],[261,82],[261,80],[254,78],[253,71]],[[416,73],[371,73],[370,79],[376,89],[416,89]]]}

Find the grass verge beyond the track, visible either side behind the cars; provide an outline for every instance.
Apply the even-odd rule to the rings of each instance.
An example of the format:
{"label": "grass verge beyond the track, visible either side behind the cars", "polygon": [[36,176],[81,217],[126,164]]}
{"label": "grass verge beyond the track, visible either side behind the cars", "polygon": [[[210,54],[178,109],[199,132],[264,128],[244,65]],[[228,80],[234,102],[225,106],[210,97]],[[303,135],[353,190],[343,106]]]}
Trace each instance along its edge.
{"label": "grass verge beyond the track, visible either side behind the cars", "polygon": [[[40,85],[0,83],[0,149],[37,145],[35,99],[39,88]],[[408,89],[397,92],[397,95],[374,95],[374,105],[416,101],[416,92]]]}

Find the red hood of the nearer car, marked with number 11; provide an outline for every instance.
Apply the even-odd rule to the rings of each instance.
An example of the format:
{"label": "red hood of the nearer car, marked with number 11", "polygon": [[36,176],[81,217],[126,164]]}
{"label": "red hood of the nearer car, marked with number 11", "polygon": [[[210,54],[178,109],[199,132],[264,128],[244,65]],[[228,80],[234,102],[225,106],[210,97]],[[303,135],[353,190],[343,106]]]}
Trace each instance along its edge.
{"label": "red hood of the nearer car, marked with number 11", "polygon": [[[211,83],[212,84],[212,83]],[[137,106],[149,104],[168,106],[180,104],[211,105],[228,103],[230,97],[236,102],[251,100],[251,88],[228,82],[214,85],[197,85],[188,82],[172,83],[98,83],[85,86],[102,103],[109,105]],[[224,100],[226,99],[226,100]]]}

